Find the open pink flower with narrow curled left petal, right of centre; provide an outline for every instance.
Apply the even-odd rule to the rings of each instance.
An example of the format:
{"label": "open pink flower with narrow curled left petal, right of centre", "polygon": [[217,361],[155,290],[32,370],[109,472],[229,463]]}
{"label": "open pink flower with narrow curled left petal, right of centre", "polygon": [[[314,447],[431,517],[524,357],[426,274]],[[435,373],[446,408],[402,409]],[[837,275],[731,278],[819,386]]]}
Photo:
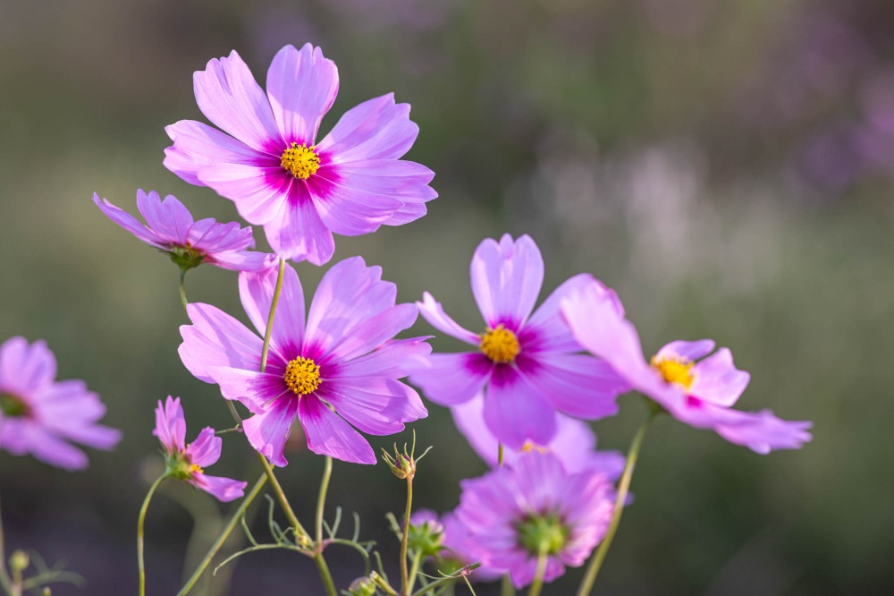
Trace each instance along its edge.
{"label": "open pink flower with narrow curled left petal, right of centre", "polygon": [[559,313],[559,302],[586,282],[571,277],[540,305],[544,260],[527,235],[504,234],[478,245],[472,258],[472,294],[485,318],[483,333],[460,327],[431,294],[417,302],[434,328],[475,352],[435,353],[410,380],[436,404],[468,402],[485,385],[485,423],[502,444],[520,449],[527,441],[548,444],[556,432],[556,411],[586,419],[618,412],[615,397],[628,383],[602,360],[578,353]]}

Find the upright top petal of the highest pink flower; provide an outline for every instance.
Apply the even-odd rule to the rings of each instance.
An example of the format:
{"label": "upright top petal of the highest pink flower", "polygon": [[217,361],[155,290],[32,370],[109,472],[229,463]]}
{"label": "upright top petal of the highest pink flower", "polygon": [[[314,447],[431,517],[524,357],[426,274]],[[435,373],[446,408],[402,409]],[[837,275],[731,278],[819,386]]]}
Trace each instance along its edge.
{"label": "upright top petal of the highest pink flower", "polygon": [[338,68],[319,47],[283,47],[267,70],[267,98],[286,144],[313,145],[336,95]]}

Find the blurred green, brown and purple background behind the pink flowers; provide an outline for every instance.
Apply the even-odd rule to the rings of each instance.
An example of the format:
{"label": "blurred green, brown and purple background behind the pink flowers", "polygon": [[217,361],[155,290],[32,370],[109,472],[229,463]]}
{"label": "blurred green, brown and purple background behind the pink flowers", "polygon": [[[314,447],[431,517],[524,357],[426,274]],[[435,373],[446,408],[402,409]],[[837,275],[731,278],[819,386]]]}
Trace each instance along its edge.
{"label": "blurred green, brown and purple background behind the pink flowers", "polygon": [[[591,271],[618,289],[646,351],[713,337],[752,372],[740,407],[815,422],[803,451],[766,457],[656,424],[597,593],[894,593],[891,30],[887,0],[0,2],[0,339],[46,339],[60,377],[87,379],[124,432],[83,473],[0,452],[7,551],[83,575],[54,594],[136,591],[136,517],[161,465],[156,400],[182,396],[190,435],[230,419],[177,356],[176,268],[90,196],[132,211],[137,188],[156,189],[235,219],[229,201],[164,169],[164,125],[203,119],[191,75],[207,60],[236,48],[263,83],[278,48],[310,41],[341,73],[323,130],[394,91],[421,128],[408,158],[434,169],[440,193],[414,224],[340,238],[336,259],[362,254],[401,300],[429,290],[476,328],[475,246],[531,234],[544,290]],[[321,275],[298,269],[306,287]],[[199,268],[188,289],[242,316],[232,274]],[[633,396],[621,404],[594,425],[604,448],[626,449],[644,415]],[[434,445],[417,504],[446,511],[485,466],[443,408],[430,411],[414,425]],[[257,476],[239,437],[224,455],[216,473]],[[302,519],[321,468],[296,440],[280,477]],[[330,495],[396,560],[384,514],[402,508],[400,481],[381,464],[336,463]],[[156,497],[150,594],[176,592],[184,557],[211,540],[187,552],[192,515],[213,526],[221,511],[181,487]],[[342,587],[362,572],[350,551],[330,561]],[[204,593],[321,592],[289,553],[227,572]],[[579,575],[546,593],[572,592]]]}

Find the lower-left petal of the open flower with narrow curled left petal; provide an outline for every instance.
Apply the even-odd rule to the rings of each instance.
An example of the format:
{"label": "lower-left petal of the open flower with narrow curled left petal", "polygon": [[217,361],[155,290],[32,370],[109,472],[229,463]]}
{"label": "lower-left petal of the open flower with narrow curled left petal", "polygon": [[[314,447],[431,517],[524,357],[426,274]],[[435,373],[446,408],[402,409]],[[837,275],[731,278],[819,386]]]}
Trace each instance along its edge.
{"label": "lower-left petal of the open flower with narrow curled left petal", "polygon": [[433,353],[410,370],[409,380],[435,404],[468,402],[491,377],[493,362],[483,353]]}

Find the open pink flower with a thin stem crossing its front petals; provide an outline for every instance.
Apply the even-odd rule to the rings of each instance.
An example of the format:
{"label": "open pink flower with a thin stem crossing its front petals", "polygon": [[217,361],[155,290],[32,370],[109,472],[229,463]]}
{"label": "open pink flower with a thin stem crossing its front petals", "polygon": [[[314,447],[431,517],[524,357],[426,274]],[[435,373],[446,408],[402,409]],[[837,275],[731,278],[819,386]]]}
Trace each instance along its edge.
{"label": "open pink flower with a thin stem crossing its front petals", "polygon": [[[242,306],[260,335],[276,276],[240,274]],[[296,418],[314,453],[375,464],[372,447],[351,425],[391,435],[426,417],[417,393],[398,379],[407,374],[405,362],[431,351],[424,337],[392,339],[416,321],[417,309],[395,306],[396,287],[381,276],[381,268],[360,257],[342,260],[320,281],[305,320],[298,275],[285,268],[264,372],[258,372],[260,336],[214,306],[190,304],[181,360],[255,414],[243,423],[246,436],[273,464],[287,464],[283,446]]]}

